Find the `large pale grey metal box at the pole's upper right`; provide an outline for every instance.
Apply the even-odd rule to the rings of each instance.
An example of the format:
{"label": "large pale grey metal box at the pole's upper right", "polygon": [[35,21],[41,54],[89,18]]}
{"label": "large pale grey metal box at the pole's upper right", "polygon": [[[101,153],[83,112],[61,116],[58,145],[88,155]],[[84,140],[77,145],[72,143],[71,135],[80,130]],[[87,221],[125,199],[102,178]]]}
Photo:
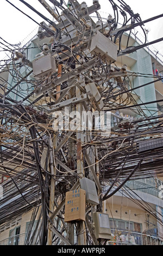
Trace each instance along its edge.
{"label": "large pale grey metal box at the pole's upper right", "polygon": [[106,62],[117,60],[117,45],[99,31],[92,38],[90,52],[100,54]]}

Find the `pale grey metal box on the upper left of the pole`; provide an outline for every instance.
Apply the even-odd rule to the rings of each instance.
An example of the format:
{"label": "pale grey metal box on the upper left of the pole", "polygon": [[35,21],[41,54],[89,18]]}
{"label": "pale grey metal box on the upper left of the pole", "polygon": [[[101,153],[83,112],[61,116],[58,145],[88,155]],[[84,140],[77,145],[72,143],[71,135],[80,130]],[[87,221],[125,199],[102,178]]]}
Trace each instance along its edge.
{"label": "pale grey metal box on the upper left of the pole", "polygon": [[33,62],[33,73],[36,77],[45,76],[48,73],[56,71],[55,59],[51,54],[35,59]]}

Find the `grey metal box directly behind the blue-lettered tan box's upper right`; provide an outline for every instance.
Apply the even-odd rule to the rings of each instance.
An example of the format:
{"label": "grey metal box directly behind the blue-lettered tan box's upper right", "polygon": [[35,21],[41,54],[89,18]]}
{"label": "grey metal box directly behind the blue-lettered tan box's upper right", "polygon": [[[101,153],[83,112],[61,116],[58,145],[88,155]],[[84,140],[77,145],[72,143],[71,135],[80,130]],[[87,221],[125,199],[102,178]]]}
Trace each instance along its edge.
{"label": "grey metal box directly behind the blue-lettered tan box's upper right", "polygon": [[85,192],[86,192],[86,202],[87,203],[90,203],[93,205],[99,204],[96,185],[95,185],[94,181],[87,179],[87,178],[82,178],[80,180],[80,186],[81,186],[82,190],[85,190]]}

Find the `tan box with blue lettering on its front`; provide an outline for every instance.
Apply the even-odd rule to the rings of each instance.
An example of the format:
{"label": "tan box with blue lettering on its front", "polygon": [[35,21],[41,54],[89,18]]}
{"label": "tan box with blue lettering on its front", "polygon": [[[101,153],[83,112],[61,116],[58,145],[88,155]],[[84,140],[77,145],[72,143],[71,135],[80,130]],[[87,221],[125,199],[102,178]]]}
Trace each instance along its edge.
{"label": "tan box with blue lettering on its front", "polygon": [[66,192],[65,222],[85,221],[85,191],[79,188]]}

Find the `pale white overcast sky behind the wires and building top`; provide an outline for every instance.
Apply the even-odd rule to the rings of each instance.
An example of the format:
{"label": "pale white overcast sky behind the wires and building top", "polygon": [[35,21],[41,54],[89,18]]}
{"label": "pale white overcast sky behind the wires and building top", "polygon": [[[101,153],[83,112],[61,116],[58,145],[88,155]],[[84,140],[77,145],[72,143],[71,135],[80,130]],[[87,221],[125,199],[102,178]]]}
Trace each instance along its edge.
{"label": "pale white overcast sky behind the wires and building top", "polygon": [[[9,1],[37,22],[40,23],[43,21],[39,15],[35,14],[19,0]],[[42,7],[39,1],[26,0],[26,2],[40,11],[40,13],[43,15],[51,17],[48,11]],[[65,2],[67,2],[67,0],[65,0]],[[82,3],[83,1],[78,0],[78,2]],[[87,0],[85,2],[88,6],[91,6],[93,1]],[[117,3],[117,0],[115,0],[115,2]],[[142,20],[146,20],[156,15],[162,14],[162,0],[157,0],[155,2],[153,0],[125,0],[124,2],[130,6],[135,14],[139,13]],[[52,6],[52,3],[48,0],[47,3]],[[109,0],[99,0],[99,4],[101,4],[101,11],[103,13],[112,14],[112,8]],[[0,36],[10,44],[17,44],[18,42],[22,41],[37,27],[37,24],[34,21],[30,20],[29,17],[12,7],[6,0],[0,1],[0,10]],[[163,18],[152,21],[150,23],[146,23],[145,28],[149,29],[148,41],[163,38]],[[158,50],[160,50],[161,54],[163,55],[163,42],[155,44],[154,46],[158,48]]]}

